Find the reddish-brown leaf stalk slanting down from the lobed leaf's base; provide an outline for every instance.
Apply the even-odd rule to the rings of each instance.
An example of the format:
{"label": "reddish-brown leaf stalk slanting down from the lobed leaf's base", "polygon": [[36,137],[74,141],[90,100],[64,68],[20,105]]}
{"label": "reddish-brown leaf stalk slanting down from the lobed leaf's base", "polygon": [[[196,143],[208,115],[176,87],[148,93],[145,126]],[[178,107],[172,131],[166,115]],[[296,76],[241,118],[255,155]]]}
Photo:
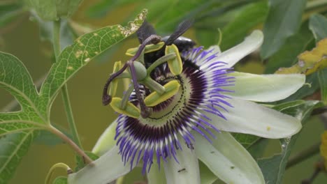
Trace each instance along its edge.
{"label": "reddish-brown leaf stalk slanting down from the lobed leaf's base", "polygon": [[73,150],[76,151],[76,153],[78,153],[78,155],[80,155],[82,158],[85,159],[85,162],[87,164],[92,164],[92,159],[89,158],[89,156],[87,154],[85,154],[84,151],[82,151],[80,149],[80,147],[77,144],[75,144],[74,141],[72,141],[71,139],[69,139],[69,137],[67,137],[66,135],[64,135],[64,133],[62,133],[57,128],[54,128],[52,125],[50,125],[50,127],[48,128],[48,130],[50,132],[52,132],[54,135],[57,135],[58,137],[60,137],[67,144],[69,144],[69,146],[71,146],[71,148],[73,148]]}

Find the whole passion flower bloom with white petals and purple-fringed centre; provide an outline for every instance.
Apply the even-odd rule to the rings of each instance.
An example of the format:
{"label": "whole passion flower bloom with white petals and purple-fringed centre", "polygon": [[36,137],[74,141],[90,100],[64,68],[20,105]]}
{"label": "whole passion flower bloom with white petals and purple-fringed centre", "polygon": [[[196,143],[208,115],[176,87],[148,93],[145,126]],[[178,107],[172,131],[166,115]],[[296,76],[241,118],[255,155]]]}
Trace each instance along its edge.
{"label": "whole passion flower bloom with white petals and purple-fringed centre", "polygon": [[[169,67],[154,72],[155,82],[168,91],[177,90],[167,97],[146,84],[140,86],[145,105],[152,107],[144,118],[133,111],[140,102],[131,92],[131,109],[124,112],[117,107],[122,114],[94,147],[101,157],[94,166],[70,174],[68,182],[109,183],[140,166],[149,183],[160,183],[158,167],[163,167],[167,183],[201,183],[199,159],[226,183],[265,183],[256,161],[229,132],[271,139],[296,134],[301,128],[297,118],[255,102],[288,97],[303,86],[305,76],[233,72],[233,65],[262,41],[263,33],[254,31],[226,52],[217,46],[191,49],[181,53],[180,73]],[[156,103],[157,97],[163,100]]]}

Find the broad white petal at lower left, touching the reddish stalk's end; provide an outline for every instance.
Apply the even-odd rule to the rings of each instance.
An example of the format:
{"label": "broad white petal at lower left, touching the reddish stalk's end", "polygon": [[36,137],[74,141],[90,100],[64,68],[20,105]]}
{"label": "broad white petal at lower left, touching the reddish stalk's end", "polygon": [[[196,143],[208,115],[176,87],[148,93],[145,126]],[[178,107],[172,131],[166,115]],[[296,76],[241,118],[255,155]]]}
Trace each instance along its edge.
{"label": "broad white petal at lower left, touching the reddish stalk's end", "polygon": [[[124,166],[119,148],[114,146],[110,151],[95,160],[94,165],[87,165],[77,173],[68,175],[69,184],[107,184],[131,171],[129,162]],[[135,164],[134,164],[135,165]]]}

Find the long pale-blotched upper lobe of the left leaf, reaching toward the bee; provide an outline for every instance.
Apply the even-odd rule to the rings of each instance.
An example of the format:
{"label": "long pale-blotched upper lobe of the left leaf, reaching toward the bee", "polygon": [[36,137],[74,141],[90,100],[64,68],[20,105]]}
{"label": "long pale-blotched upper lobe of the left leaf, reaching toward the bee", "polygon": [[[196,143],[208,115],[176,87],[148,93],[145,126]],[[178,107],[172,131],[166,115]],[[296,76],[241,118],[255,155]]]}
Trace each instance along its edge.
{"label": "long pale-blotched upper lobe of the left leaf, reaching toward the bee", "polygon": [[80,68],[86,66],[95,56],[119,43],[134,33],[145,20],[147,10],[143,10],[129,26],[106,26],[91,33],[87,33],[66,47],[50,69],[48,77],[41,87],[40,107],[44,114],[49,114],[51,104],[61,86],[73,77]]}

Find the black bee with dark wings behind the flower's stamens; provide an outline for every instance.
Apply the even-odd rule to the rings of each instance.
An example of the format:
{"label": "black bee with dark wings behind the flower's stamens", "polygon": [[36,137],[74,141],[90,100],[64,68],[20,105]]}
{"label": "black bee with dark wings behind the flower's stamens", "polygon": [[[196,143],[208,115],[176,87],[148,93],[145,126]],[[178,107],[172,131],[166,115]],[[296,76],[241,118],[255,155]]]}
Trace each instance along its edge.
{"label": "black bee with dark wings behind the flower's stamens", "polygon": [[[187,29],[189,29],[192,24],[192,20],[185,20],[184,22],[180,23],[174,33],[172,33],[170,36],[161,38],[161,41],[163,41],[165,45],[163,45],[163,47],[156,52],[150,52],[144,55],[145,67],[148,68],[152,63],[154,63],[154,61],[165,55],[166,45],[176,45],[179,52],[185,52],[189,49],[192,49],[196,43],[193,40],[182,36],[182,34],[187,31]],[[145,21],[136,33],[139,42],[142,44],[143,41],[149,36],[156,34],[156,31],[154,31],[153,26],[149,22]],[[160,75],[160,73],[163,73],[163,71],[163,66],[160,66],[155,70],[157,75]]]}

